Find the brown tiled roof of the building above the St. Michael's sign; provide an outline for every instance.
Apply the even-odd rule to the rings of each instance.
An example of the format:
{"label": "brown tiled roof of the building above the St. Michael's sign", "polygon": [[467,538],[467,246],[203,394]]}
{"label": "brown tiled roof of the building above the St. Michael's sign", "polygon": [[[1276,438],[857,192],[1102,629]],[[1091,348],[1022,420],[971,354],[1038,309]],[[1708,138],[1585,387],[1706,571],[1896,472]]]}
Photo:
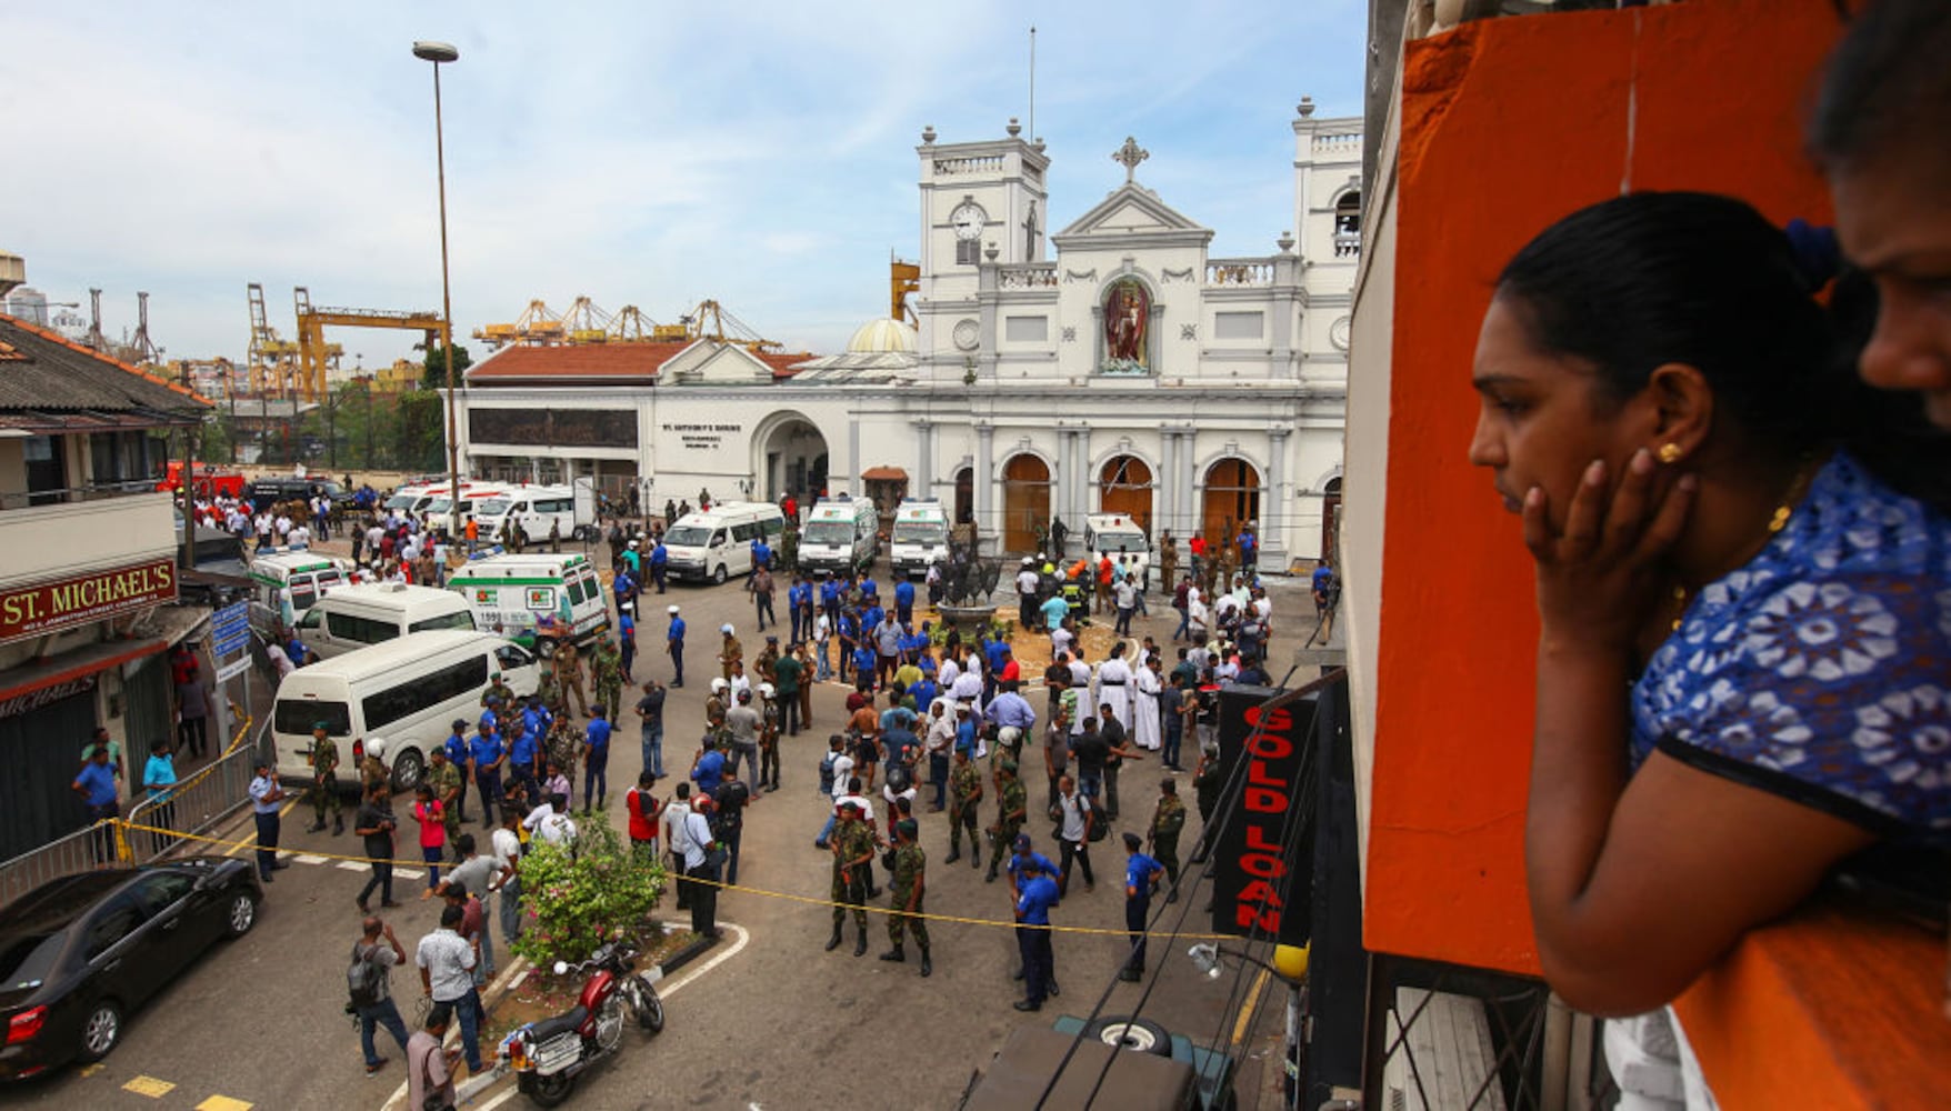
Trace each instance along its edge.
{"label": "brown tiled roof of the building above the St. Michael's sign", "polygon": [[209,400],[187,387],[0,314],[0,412],[115,412],[193,420]]}

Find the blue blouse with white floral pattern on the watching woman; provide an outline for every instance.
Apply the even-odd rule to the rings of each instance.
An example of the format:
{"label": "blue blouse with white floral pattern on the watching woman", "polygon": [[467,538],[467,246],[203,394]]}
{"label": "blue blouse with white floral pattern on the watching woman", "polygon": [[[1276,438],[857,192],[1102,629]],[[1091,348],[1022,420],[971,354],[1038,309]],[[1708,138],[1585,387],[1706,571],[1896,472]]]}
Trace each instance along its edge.
{"label": "blue blouse with white floral pattern on the watching woman", "polygon": [[1633,685],[1654,748],[1892,840],[1951,844],[1951,519],[1836,453]]}

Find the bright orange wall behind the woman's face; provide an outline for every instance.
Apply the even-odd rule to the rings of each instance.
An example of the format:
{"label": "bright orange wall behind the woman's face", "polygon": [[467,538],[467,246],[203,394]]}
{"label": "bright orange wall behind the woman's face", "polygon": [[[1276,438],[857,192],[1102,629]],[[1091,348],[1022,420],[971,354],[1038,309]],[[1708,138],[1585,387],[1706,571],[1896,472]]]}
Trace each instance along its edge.
{"label": "bright orange wall behind the woman's face", "polygon": [[1366,873],[1370,949],[1535,972],[1524,890],[1535,619],[1516,517],[1465,461],[1496,271],[1621,189],[1828,221],[1797,125],[1828,0],[1504,18],[1413,43]]}

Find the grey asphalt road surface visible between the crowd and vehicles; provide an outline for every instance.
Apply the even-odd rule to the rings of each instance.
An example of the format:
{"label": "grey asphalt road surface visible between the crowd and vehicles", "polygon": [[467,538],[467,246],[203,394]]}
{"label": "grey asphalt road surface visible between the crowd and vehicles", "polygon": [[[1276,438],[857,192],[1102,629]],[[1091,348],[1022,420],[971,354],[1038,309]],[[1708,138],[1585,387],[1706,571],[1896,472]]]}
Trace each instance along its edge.
{"label": "grey asphalt road surface visible between the crowd and vehicles", "polygon": [[[683,603],[693,631],[687,656],[693,681],[671,691],[667,707],[665,763],[681,769],[695,748],[695,740],[687,738],[700,732],[718,625],[734,621],[753,656],[763,637],[751,627],[751,607],[737,584],[673,586],[669,596],[646,599],[640,678],[646,666],[648,674],[669,678],[661,654],[661,607],[669,601]],[[1276,625],[1284,627],[1274,644],[1274,658],[1280,660],[1292,656],[1292,648],[1311,629],[1311,605],[1301,584],[1278,588]],[[1151,631],[1163,640],[1171,625],[1159,615],[1149,627],[1139,619],[1137,631]],[[810,900],[825,896],[831,857],[812,847],[825,814],[814,785],[823,738],[843,719],[845,693],[833,683],[817,687],[814,728],[782,742],[786,789],[763,795],[749,814],[739,877],[745,886]],[[618,734],[613,758],[615,797],[620,797],[636,765],[632,730],[622,728]],[[1126,771],[1120,830],[1145,822],[1155,783],[1155,765]],[[1040,797],[1042,783],[1036,783],[1032,802]],[[987,816],[985,810],[985,820]],[[302,810],[285,818],[287,847],[359,851],[349,832],[341,838],[302,834],[306,820]],[[615,822],[620,828],[620,814]],[[1046,840],[1048,822],[1030,822],[1028,828],[1038,842]],[[1188,844],[1190,836],[1192,830]],[[966,863],[940,865],[946,855],[946,822],[940,814],[923,816],[921,842],[931,857],[931,912],[1009,918],[1007,885],[985,885]],[[1122,927],[1118,877],[1124,859],[1116,834],[1095,847],[1095,857],[1096,890],[1085,892],[1081,883],[1073,883],[1071,896],[1055,918],[1063,926],[1116,931]],[[359,1064],[357,1037],[341,1013],[345,951],[359,924],[353,896],[365,875],[332,863],[297,863],[277,875],[258,927],[236,943],[213,949],[137,1013],[125,1043],[101,1066],[66,1070],[12,1095],[27,1107],[378,1107],[404,1078],[400,1054],[396,1049],[382,1049],[394,1062],[369,1080]],[[398,881],[396,898],[406,906],[390,918],[412,951],[433,929],[439,904],[421,902],[418,883],[410,879]],[[1180,906],[1190,904],[1204,906],[1204,888],[1190,902],[1175,906],[1175,918]],[[1198,906],[1186,916],[1186,931],[1206,929]],[[667,912],[677,914],[675,908]],[[630,1045],[624,1054],[587,1076],[576,1105],[808,1107],[843,1099],[862,1107],[952,1105],[972,1070],[989,1060],[1016,1023],[1089,1013],[1106,984],[1114,984],[1124,953],[1124,939],[1114,933],[1059,937],[1055,953],[1063,996],[1046,1004],[1042,1015],[1022,1015],[1011,1009],[1018,986],[1009,980],[1015,941],[1007,927],[936,924],[935,976],[923,980],[913,945],[907,965],[876,959],[888,947],[882,916],[870,916],[868,955],[855,959],[853,926],[847,927],[847,945],[833,953],[821,949],[831,926],[831,912],[823,906],[757,892],[726,892],[720,914],[749,929],[749,945],[671,1000],[663,1035]],[[1225,1037],[1231,1033],[1229,1009],[1237,1004],[1229,1000],[1235,978],[1196,976],[1184,959],[1186,945],[1188,941],[1153,945],[1153,965],[1163,963],[1165,972],[1145,1013],[1196,1041]],[[501,955],[501,961],[507,957]],[[396,990],[408,1000],[416,998],[418,976],[398,974]],[[1116,982],[1104,1013],[1130,1013],[1141,990],[1143,984]],[[412,1021],[412,1013],[408,1019]],[[1260,1029],[1278,1031],[1278,1000],[1262,1006],[1258,1019],[1260,1027],[1249,1035],[1249,1045],[1260,1043]],[[123,1088],[139,1078],[176,1088],[158,1097]],[[240,1103],[211,1103],[211,1097]]]}

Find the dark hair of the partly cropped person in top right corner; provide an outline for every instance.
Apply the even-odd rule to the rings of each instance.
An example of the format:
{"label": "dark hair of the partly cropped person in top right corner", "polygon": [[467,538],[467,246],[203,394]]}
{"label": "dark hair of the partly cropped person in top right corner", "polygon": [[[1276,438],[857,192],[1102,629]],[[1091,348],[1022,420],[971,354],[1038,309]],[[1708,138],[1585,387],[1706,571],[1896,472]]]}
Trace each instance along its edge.
{"label": "dark hair of the partly cropped person in top right corner", "polygon": [[1943,158],[1951,129],[1951,4],[1875,0],[1850,18],[1809,117],[1828,170],[1885,154]]}

